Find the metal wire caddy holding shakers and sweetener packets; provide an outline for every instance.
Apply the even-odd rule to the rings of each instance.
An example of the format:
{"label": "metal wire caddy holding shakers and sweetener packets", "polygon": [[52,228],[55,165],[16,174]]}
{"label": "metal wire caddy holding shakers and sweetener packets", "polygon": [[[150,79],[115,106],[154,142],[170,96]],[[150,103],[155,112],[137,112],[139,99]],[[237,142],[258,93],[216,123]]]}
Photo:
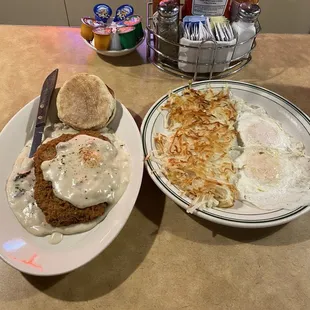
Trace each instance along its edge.
{"label": "metal wire caddy holding shakers and sweetener packets", "polygon": [[[237,73],[252,60],[251,52],[256,46],[256,36],[261,30],[258,21],[256,22],[255,27],[256,34],[254,36],[243,42],[238,42],[238,37],[236,37],[235,39],[238,43],[233,45],[221,45],[220,42],[217,42],[214,39],[211,41],[202,41],[198,43],[198,46],[174,43],[168,41],[156,32],[156,26],[154,23],[153,2],[148,2],[146,26],[147,58],[148,61],[153,63],[158,69],[179,76],[181,78],[192,79],[194,81],[224,78]],[[218,60],[218,56],[220,53],[223,53],[225,52],[225,50],[229,49],[230,53],[233,55],[238,46],[246,44],[251,40],[253,40],[253,44],[250,52],[247,51],[240,57],[234,58],[234,60]],[[191,61],[182,59],[182,57],[180,57],[180,53],[177,58],[171,57],[160,51],[160,49],[158,48],[160,42],[164,43],[168,47],[170,46],[171,49],[178,48],[179,51],[181,51],[182,49],[186,51],[191,51],[191,53],[195,53],[196,56],[194,59],[191,59]],[[206,43],[208,44],[207,47]],[[204,62],[201,61],[201,59],[203,58],[203,53],[206,52],[206,50],[209,50],[211,52],[210,55],[212,56],[207,62]],[[184,66],[191,66],[191,68],[193,68],[192,72],[186,72],[184,70],[181,70],[180,67]],[[201,68],[203,69],[201,70]],[[223,68],[223,70],[219,70],[217,68]],[[202,73],[200,71],[205,72]]]}

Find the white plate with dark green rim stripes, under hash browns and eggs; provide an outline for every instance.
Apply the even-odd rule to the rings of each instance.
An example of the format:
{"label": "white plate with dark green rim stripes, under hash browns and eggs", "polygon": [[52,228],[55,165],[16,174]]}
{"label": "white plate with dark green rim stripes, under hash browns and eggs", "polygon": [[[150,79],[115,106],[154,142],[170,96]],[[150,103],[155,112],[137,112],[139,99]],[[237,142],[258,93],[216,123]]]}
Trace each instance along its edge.
{"label": "white plate with dark green rim stripes, under hash browns and eggs", "polygon": [[[299,141],[302,141],[305,144],[307,153],[310,154],[310,119],[294,104],[267,89],[242,82],[202,81],[193,84],[193,88],[199,90],[206,89],[209,86],[215,90],[229,86],[233,95],[244,99],[249,104],[262,106],[270,116],[282,123],[284,130]],[[187,85],[177,88],[173,92],[181,94],[186,87]],[[155,149],[154,135],[156,133],[167,133],[163,126],[163,115],[160,113],[160,107],[166,103],[167,99],[168,95],[159,99],[150,108],[143,120],[141,135],[145,156]],[[176,204],[187,209],[191,200],[182,196],[179,190],[171,185],[165,177],[156,173],[159,165],[148,160],[146,167],[156,185]],[[214,208],[208,211],[197,210],[194,212],[194,215],[227,226],[258,228],[285,224],[309,210],[310,206],[300,206],[295,210],[257,210],[237,202],[233,208]]]}

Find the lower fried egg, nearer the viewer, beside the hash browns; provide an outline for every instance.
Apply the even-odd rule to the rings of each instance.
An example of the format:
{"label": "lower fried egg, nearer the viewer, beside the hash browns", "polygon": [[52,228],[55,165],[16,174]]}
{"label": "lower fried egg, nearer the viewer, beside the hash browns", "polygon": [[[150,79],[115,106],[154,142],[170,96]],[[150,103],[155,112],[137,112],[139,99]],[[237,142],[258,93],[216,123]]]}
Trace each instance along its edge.
{"label": "lower fried egg, nearer the viewer, beside the hash browns", "polygon": [[260,209],[310,204],[310,159],[279,149],[245,148],[235,161],[240,200]]}

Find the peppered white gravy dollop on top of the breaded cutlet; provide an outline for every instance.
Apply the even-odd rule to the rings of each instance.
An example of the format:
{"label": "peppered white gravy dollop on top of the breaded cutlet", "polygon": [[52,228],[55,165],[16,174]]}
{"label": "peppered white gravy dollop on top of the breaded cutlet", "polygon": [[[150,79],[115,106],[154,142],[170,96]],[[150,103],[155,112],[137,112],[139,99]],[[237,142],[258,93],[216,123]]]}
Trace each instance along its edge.
{"label": "peppered white gravy dollop on top of the breaded cutlet", "polygon": [[79,135],[56,146],[57,155],[41,165],[55,196],[80,209],[112,204],[122,188],[122,158],[113,144]]}

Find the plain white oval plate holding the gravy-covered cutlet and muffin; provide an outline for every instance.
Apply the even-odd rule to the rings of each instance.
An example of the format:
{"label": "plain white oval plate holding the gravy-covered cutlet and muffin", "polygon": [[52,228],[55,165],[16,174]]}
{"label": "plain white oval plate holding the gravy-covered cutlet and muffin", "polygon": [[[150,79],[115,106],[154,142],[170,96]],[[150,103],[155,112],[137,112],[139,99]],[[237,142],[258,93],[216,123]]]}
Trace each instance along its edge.
{"label": "plain white oval plate holding the gravy-covered cutlet and muffin", "polygon": [[[28,233],[15,218],[6,197],[6,181],[25,141],[33,134],[39,97],[20,110],[0,134],[0,255],[14,268],[33,275],[50,276],[72,271],[97,256],[118,235],[137,199],[143,174],[143,150],[138,127],[119,102],[109,127],[116,131],[131,156],[131,179],[128,187],[107,217],[94,229],[82,234],[64,236],[57,245],[47,237]],[[121,249],[120,249],[121,251]]]}

